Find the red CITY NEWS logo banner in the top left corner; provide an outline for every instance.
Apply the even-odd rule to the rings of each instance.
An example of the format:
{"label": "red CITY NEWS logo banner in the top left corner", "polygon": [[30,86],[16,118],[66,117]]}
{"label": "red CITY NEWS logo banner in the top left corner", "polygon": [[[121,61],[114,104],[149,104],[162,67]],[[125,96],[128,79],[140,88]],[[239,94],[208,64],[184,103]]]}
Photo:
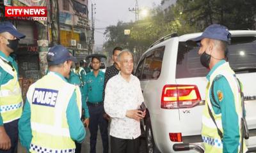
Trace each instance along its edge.
{"label": "red CITY NEWS logo banner in the top left corner", "polygon": [[33,20],[47,20],[45,6],[5,6],[5,17],[32,17]]}

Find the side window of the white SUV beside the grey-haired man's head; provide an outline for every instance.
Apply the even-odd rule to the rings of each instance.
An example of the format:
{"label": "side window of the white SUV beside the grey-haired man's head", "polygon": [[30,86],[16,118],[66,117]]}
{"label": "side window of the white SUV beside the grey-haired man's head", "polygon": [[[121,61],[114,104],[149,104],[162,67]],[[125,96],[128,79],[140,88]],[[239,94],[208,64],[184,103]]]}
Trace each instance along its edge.
{"label": "side window of the white SUV beside the grey-haired man's head", "polygon": [[162,68],[164,47],[156,48],[148,53],[141,75],[141,80],[156,80]]}

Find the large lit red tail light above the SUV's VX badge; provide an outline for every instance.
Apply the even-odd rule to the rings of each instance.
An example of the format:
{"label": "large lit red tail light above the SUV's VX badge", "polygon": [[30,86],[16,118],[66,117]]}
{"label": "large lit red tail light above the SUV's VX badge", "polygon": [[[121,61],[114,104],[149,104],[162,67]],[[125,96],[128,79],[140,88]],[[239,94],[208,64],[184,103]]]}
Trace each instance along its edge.
{"label": "large lit red tail light above the SUV's VX badge", "polygon": [[198,105],[201,96],[196,85],[164,85],[161,108],[190,108]]}

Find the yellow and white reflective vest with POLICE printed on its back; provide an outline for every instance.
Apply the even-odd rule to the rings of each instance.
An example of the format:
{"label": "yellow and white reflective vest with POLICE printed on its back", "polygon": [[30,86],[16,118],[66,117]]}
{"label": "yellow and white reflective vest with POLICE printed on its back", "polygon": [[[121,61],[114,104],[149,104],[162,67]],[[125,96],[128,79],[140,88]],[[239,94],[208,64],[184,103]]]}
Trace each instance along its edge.
{"label": "yellow and white reflective vest with POLICE printed on its back", "polygon": [[[76,148],[70,138],[66,116],[68,103],[75,90],[75,85],[68,84],[52,72],[29,87],[27,98],[31,105],[31,144],[60,151]],[[77,104],[81,103],[81,100],[77,100]],[[37,152],[32,147],[30,151]]]}

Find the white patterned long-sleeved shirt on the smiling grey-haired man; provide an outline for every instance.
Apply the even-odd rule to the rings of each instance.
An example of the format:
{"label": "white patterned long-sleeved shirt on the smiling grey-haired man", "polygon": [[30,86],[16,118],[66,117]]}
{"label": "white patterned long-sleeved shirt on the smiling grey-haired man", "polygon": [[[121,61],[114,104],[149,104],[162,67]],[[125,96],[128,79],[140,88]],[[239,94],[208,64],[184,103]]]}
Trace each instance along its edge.
{"label": "white patterned long-sleeved shirt on the smiling grey-haired man", "polygon": [[127,82],[120,73],[109,79],[105,89],[104,109],[111,117],[109,135],[135,139],[141,135],[140,121],[126,117],[127,110],[136,110],[143,103],[140,80],[131,75]]}

